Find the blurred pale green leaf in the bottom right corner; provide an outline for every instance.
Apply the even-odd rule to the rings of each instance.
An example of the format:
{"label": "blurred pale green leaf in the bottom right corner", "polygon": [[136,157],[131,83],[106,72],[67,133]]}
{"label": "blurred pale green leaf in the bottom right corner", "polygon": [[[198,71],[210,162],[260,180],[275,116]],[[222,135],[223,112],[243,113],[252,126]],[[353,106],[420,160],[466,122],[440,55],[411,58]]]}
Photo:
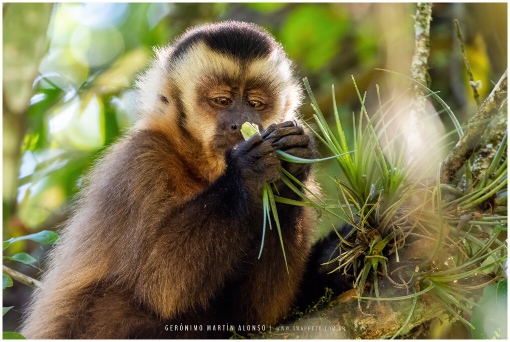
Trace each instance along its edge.
{"label": "blurred pale green leaf in the bottom right corner", "polygon": [[479,306],[473,310],[471,330],[473,338],[492,339],[507,337],[507,280],[484,287]]}

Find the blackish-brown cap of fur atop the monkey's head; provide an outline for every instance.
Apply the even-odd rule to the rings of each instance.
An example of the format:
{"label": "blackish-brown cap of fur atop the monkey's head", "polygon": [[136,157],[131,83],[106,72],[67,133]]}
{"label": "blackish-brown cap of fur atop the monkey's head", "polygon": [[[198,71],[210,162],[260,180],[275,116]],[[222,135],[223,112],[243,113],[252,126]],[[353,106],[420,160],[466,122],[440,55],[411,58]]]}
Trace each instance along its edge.
{"label": "blackish-brown cap of fur atop the monkey's head", "polygon": [[242,21],[223,21],[186,31],[173,44],[175,50],[172,59],[179,58],[198,42],[204,42],[211,50],[240,60],[267,57],[273,48],[282,50],[281,45],[257,25]]}

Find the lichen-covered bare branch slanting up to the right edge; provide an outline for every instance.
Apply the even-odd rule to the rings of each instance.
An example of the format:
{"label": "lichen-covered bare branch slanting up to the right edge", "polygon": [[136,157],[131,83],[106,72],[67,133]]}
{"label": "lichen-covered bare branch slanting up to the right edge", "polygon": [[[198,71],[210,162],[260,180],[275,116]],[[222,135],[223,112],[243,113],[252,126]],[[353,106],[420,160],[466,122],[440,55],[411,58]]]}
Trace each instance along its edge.
{"label": "lichen-covered bare branch slanting up to the right edge", "polygon": [[503,76],[501,76],[476,114],[469,119],[468,127],[464,131],[464,135],[446,157],[441,169],[442,182],[451,183],[458,169],[460,169],[473,154],[476,145],[483,136],[483,132],[485,132],[490,124],[490,119],[498,113],[499,108],[507,97],[507,74],[508,70],[505,70]]}

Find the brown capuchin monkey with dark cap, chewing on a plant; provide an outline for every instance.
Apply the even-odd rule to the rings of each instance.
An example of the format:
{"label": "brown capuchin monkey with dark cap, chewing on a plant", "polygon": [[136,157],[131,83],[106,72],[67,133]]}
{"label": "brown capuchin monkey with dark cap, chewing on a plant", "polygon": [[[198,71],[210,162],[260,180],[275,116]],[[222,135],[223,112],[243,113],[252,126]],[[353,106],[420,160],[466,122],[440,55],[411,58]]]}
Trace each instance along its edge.
{"label": "brown capuchin monkey with dark cap, chewing on a plant", "polygon": [[[274,325],[318,279],[312,208],[277,204],[288,273],[274,222],[258,258],[263,185],[300,200],[283,167],[318,191],[310,164],[275,153],[316,156],[282,46],[227,21],[156,53],[137,83],[136,125],[95,163],[50,252],[27,338],[224,338],[218,325]],[[244,141],[245,121],[262,134]]]}

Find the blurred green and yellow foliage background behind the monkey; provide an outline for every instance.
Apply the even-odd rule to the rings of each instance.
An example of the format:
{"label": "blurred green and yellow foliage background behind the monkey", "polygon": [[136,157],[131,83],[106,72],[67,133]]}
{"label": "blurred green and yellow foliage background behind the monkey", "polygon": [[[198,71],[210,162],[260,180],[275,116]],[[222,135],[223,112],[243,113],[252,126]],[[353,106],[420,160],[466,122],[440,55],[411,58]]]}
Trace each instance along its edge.
{"label": "blurred green and yellow foliage background behind the monkey", "polygon": [[[433,7],[430,88],[441,91],[461,122],[476,106],[453,19],[461,22],[484,98],[507,67],[506,6]],[[359,107],[350,75],[360,89],[375,91],[378,83],[389,96],[391,81],[374,68],[409,74],[415,10],[414,4],[4,4],[3,239],[65,220],[84,173],[136,120],[133,83],[152,46],[205,22],[255,22],[283,44],[324,113],[331,112],[335,84],[339,112],[349,122]],[[310,117],[307,101],[302,113]],[[40,260],[45,250],[26,241],[6,252]],[[37,277],[30,268],[12,267]],[[4,317],[5,331],[18,326],[29,291],[24,285],[4,291],[3,306],[18,310]]]}

